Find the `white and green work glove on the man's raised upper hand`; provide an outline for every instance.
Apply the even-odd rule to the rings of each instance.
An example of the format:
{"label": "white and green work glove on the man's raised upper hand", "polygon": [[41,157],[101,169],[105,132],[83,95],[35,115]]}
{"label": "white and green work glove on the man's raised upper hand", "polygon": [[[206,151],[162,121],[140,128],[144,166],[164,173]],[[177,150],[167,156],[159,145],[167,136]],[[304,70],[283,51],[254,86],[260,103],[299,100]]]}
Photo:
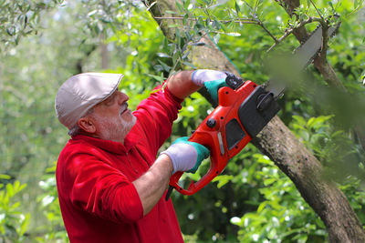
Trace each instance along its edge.
{"label": "white and green work glove on the man's raised upper hand", "polygon": [[205,86],[215,103],[218,103],[218,89],[227,86],[224,72],[198,69],[193,72],[192,81],[197,86]]}

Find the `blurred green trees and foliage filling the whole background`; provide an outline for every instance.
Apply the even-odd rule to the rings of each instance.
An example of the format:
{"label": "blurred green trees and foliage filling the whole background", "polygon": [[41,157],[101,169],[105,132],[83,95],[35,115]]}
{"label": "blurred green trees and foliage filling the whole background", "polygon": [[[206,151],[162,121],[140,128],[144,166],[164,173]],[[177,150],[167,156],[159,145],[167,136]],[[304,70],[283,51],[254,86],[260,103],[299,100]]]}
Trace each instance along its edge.
{"label": "blurred green trees and foliage filling the whole background", "polygon": [[[302,2],[308,14],[315,14],[311,1]],[[169,42],[147,11],[153,4],[146,7],[144,1],[0,0],[3,241],[68,241],[54,177],[58,153],[68,136],[55,116],[54,97],[69,76],[86,71],[123,73],[121,88],[135,107],[171,73],[193,68],[184,55],[190,50],[189,41],[196,38],[193,33],[203,29],[211,33],[242,76],[262,84],[268,78],[263,62],[273,39],[257,23],[233,20],[255,18],[276,36],[282,35],[287,23],[297,23],[269,1],[180,3],[177,8],[184,14],[178,17],[185,24],[197,17],[200,29],[192,29],[189,36],[182,32],[176,42]],[[332,13],[332,7],[341,14],[339,35],[330,42],[328,61],[350,94],[363,95],[362,1],[318,1],[316,5],[324,14]],[[297,40],[290,36],[276,47],[292,50],[296,46]],[[324,84],[313,66],[308,73]],[[306,89],[289,90],[280,101],[279,116],[328,168],[328,175],[339,183],[364,225],[364,152],[350,127],[339,123],[339,118],[346,121],[353,115],[333,116],[335,111],[320,106],[311,95]],[[172,140],[190,134],[211,110],[199,94],[186,99]],[[205,162],[192,177],[207,166]],[[325,226],[294,184],[252,145],[230,161],[214,183],[192,197],[174,193],[172,200],[186,242],[328,241]]]}

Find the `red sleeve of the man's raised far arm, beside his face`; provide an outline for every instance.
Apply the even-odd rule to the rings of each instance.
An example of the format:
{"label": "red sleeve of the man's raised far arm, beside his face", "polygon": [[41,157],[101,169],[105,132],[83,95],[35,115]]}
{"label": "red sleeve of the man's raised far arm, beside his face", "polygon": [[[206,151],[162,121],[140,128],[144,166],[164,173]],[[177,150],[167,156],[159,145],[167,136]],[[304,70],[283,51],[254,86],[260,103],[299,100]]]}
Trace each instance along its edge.
{"label": "red sleeve of the man's raised far arm, beside his face", "polygon": [[141,101],[133,113],[149,141],[151,151],[157,154],[165,140],[172,134],[172,123],[182,108],[182,99],[173,96],[167,86],[156,87],[151,96]]}

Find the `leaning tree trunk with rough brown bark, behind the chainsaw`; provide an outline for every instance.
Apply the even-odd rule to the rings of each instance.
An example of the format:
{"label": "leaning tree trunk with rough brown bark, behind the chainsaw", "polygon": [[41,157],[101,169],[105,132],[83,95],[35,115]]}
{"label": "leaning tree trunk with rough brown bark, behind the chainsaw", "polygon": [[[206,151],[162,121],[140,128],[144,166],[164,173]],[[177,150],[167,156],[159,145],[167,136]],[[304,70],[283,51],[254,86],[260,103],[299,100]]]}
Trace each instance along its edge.
{"label": "leaning tree trunk with rough brown bark, behind the chainsaw", "polygon": [[[297,4],[299,1],[289,2]],[[174,3],[175,0],[157,1],[155,7],[159,9],[160,14],[154,12],[153,16],[162,17],[166,10],[176,11]],[[159,18],[158,22],[163,20]],[[174,35],[175,29],[169,28],[168,25],[161,27],[162,32],[169,38]],[[301,30],[300,35],[305,35],[305,32]],[[205,45],[194,46],[189,57],[193,65],[238,74],[235,66],[211,39],[203,37],[201,42]],[[331,242],[365,242],[365,232],[359,218],[350,208],[348,199],[334,182],[324,177],[324,169],[318,159],[304,147],[278,116],[255,137],[253,143],[293,181],[301,196],[323,220]]]}

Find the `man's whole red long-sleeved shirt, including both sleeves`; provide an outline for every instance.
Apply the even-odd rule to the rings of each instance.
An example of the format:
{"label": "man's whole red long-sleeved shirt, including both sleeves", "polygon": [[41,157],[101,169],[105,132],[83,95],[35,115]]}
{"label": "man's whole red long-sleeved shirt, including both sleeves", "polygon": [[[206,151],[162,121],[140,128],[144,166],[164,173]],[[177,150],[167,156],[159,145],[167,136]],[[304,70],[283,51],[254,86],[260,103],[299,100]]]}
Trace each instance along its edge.
{"label": "man's whole red long-sleeved shirt, including both sleeves", "polygon": [[163,196],[143,217],[131,183],[151,167],[170,137],[180,103],[166,88],[151,94],[133,112],[137,123],[124,145],[82,135],[69,139],[56,177],[71,242],[183,242],[171,199]]}

